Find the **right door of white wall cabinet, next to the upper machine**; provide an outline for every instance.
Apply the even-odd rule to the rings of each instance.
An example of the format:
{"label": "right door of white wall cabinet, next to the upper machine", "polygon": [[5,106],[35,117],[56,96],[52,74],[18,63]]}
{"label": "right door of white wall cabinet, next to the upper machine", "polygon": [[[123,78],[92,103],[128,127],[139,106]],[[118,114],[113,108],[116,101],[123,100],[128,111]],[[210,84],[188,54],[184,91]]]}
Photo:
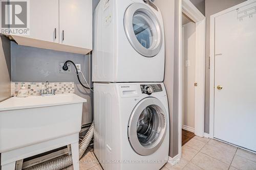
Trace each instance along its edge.
{"label": "right door of white wall cabinet, next to the upper machine", "polygon": [[92,49],[92,0],[59,0],[60,43]]}

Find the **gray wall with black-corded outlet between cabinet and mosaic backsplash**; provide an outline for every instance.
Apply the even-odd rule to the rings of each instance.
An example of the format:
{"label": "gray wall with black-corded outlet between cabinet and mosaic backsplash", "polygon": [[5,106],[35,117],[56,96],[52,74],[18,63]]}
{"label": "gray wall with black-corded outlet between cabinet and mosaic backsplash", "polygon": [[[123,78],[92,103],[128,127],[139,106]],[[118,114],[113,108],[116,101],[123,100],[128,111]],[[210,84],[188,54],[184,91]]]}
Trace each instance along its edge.
{"label": "gray wall with black-corded outlet between cabinet and mosaic backsplash", "polygon": [[86,76],[87,80],[89,80],[91,74],[91,55],[58,52],[42,48],[17,45],[15,42],[11,42],[12,81],[75,82],[75,93],[82,98],[88,100],[87,103],[83,104],[82,124],[91,123],[91,101],[93,100],[91,100],[92,94],[90,90],[84,89],[79,84],[73,65],[71,65],[71,72],[69,74],[59,73],[59,62],[65,62],[67,60],[72,60],[75,63],[80,63],[84,76]]}

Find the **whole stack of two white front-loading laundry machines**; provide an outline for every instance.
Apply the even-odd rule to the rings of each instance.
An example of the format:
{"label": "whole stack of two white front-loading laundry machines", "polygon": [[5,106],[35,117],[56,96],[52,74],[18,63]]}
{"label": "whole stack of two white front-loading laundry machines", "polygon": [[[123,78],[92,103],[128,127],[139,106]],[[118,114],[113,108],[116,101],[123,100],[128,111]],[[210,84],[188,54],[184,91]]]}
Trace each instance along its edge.
{"label": "whole stack of two white front-loading laundry machines", "polygon": [[169,151],[160,10],[150,0],[101,0],[93,49],[96,157],[104,170],[160,169]]}

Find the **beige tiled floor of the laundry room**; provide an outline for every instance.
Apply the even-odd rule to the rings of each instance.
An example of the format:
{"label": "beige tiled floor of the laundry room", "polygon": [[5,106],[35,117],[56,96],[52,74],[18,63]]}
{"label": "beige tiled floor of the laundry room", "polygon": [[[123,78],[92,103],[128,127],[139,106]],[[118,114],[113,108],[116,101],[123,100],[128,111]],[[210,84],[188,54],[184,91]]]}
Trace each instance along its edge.
{"label": "beige tiled floor of the laundry room", "polygon": [[[80,170],[101,170],[93,151],[80,159]],[[182,158],[176,165],[165,164],[161,170],[256,170],[256,154],[229,144],[195,136],[182,147]],[[73,166],[63,170],[73,170]]]}

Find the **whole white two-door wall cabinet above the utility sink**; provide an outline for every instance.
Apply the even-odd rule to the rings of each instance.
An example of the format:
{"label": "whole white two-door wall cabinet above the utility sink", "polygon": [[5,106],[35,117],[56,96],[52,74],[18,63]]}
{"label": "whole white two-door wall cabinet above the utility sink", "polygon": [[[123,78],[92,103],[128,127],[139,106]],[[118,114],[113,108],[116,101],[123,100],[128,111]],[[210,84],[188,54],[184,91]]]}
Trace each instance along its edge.
{"label": "whole white two-door wall cabinet above the utility sink", "polygon": [[92,51],[92,0],[29,1],[29,35],[10,34],[20,45],[78,54]]}

